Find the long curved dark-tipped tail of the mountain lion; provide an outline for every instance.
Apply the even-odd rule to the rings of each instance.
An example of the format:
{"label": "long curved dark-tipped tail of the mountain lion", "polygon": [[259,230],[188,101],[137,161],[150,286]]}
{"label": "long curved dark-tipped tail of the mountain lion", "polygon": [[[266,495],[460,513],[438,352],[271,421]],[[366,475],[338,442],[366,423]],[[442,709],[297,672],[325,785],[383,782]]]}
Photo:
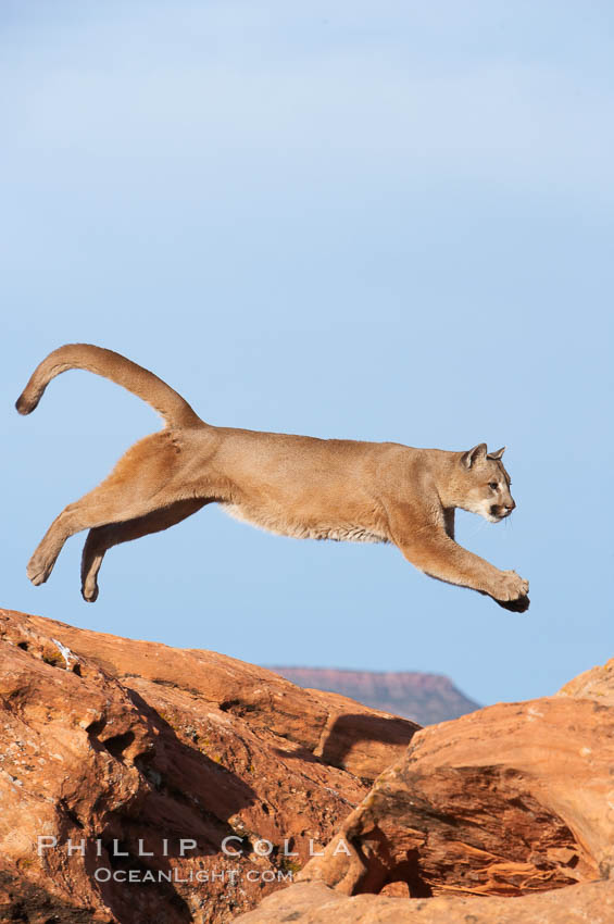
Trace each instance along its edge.
{"label": "long curved dark-tipped tail of the mountain lion", "polygon": [[35,369],[15,403],[20,414],[30,414],[52,378],[70,369],[85,369],[123,385],[142,398],[164,419],[168,426],[197,426],[203,421],[170,385],[149,370],[127,360],[121,353],[90,344],[66,344],[49,353]]}

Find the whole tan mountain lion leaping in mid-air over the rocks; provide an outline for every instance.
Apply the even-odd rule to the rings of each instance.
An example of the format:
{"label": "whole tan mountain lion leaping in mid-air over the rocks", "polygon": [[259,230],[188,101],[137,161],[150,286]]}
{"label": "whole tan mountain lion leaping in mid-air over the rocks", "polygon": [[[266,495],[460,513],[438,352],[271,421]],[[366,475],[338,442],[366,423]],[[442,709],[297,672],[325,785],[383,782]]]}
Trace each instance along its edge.
{"label": "whole tan mountain lion leaping in mid-air over the rocks", "polygon": [[215,501],[283,536],[393,542],[431,577],[508,609],[528,608],[526,580],[454,541],[455,508],[498,522],[515,507],[503,450],[489,454],[480,444],[444,452],[210,426],[153,373],[87,344],[60,347],[40,363],[17,400],[20,413],[30,413],[51,378],[68,369],[117,382],[149,401],[167,426],[136,442],[104,482],[53,521],[28,564],[34,584],[47,580],[70,536],[89,529],[82,592],[93,601],[108,549],[166,529]]}

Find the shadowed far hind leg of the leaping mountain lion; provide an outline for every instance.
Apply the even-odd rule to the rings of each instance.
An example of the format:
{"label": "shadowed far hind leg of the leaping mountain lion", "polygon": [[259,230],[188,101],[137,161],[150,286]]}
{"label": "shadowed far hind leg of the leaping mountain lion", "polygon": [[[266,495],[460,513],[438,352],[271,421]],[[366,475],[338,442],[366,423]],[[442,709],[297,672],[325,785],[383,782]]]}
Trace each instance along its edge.
{"label": "shadowed far hind leg of the leaping mountain lion", "polygon": [[102,564],[104,553],[113,546],[121,542],[129,542],[131,539],[140,539],[150,533],[160,533],[174,526],[196,513],[209,500],[179,500],[171,507],[154,510],[145,516],[127,520],[124,523],[108,523],[90,529],[84,546],[82,558],[82,595],[88,603],[93,603],[98,598],[98,572]]}

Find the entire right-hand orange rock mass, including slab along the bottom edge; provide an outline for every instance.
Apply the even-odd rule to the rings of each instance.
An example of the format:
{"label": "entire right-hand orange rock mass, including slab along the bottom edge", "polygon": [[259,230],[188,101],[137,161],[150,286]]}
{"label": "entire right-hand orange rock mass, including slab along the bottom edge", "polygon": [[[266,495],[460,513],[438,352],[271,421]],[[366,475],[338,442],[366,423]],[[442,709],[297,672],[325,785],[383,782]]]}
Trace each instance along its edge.
{"label": "entire right-hand orange rock mass, including slab along the bottom edge", "polygon": [[299,882],[238,921],[611,924],[613,692],[614,660],[423,729]]}

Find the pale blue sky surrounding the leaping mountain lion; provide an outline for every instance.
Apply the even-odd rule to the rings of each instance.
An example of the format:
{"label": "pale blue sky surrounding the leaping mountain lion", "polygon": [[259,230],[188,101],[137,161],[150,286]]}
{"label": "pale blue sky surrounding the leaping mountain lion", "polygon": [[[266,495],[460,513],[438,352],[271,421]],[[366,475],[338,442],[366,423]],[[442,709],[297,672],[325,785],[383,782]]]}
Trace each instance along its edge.
{"label": "pale blue sky surrounding the leaping mountain lion", "polygon": [[[481,702],[614,654],[614,10],[609,2],[0,7],[1,603],[248,661],[450,675]],[[528,614],[393,547],[270,536],[210,508],[41,588],[51,520],[158,428],[67,341],[152,369],[204,420],[506,444],[512,521],[462,544]]]}

